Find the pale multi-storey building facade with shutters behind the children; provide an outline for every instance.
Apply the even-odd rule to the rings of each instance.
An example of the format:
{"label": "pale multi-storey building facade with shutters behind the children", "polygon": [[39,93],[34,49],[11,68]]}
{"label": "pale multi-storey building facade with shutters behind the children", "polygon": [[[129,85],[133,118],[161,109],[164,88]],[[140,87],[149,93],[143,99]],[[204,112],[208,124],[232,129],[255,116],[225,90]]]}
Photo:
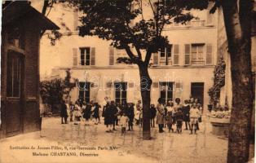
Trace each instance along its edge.
{"label": "pale multi-storey building facade with shutters behind the children", "polygon": [[[98,37],[79,37],[79,13],[70,8],[62,10],[64,13],[60,10],[62,7],[53,8],[49,17],[60,24],[65,20],[64,36],[55,46],[49,46],[47,38],[43,38],[41,52],[49,54],[48,59],[55,59],[60,77],[64,78],[66,69],[70,69],[72,77],[78,79],[77,88],[70,94],[71,100],[80,98],[102,104],[106,96],[117,102],[135,103],[141,99],[137,65],[117,63],[117,58],[128,56],[126,52]],[[169,38],[170,45],[152,55],[152,66],[148,70],[153,81],[152,104],[157,104],[159,97],[167,101],[191,96],[200,99],[204,108],[210,103],[207,92],[213,85],[218,55],[218,12],[193,13],[200,19],[166,26],[163,34]],[[46,68],[41,68],[41,73],[45,73]]]}

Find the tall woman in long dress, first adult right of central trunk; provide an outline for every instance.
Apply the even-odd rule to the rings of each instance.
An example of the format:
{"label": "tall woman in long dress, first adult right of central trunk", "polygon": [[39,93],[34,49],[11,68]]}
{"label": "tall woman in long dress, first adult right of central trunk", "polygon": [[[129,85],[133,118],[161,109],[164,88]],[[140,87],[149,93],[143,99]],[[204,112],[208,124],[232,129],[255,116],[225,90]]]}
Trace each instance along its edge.
{"label": "tall woman in long dress, first adult right of central trunk", "polygon": [[164,132],[163,127],[165,123],[165,109],[163,105],[163,100],[161,98],[158,99],[158,104],[157,104],[157,125],[159,127],[159,132],[162,133]]}

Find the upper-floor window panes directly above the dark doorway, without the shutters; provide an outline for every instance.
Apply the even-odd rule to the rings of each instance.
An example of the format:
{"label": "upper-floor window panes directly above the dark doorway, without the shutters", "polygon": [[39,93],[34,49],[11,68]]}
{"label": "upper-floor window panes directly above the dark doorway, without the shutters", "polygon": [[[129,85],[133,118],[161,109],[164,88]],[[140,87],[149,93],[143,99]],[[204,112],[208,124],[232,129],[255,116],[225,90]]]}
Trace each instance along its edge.
{"label": "upper-floor window panes directly above the dark doorway, without the shutters", "polygon": [[192,44],[192,64],[203,65],[204,61],[204,44]]}

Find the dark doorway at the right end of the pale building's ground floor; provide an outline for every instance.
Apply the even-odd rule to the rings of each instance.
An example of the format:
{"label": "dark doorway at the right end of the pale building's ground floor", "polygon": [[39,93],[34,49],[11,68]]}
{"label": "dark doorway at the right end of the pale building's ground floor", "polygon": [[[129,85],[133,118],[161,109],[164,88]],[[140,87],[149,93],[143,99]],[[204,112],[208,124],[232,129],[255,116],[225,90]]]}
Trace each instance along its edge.
{"label": "dark doorway at the right end of the pale building's ground floor", "polygon": [[192,82],[191,83],[191,95],[194,99],[198,99],[199,103],[204,106],[204,83]]}

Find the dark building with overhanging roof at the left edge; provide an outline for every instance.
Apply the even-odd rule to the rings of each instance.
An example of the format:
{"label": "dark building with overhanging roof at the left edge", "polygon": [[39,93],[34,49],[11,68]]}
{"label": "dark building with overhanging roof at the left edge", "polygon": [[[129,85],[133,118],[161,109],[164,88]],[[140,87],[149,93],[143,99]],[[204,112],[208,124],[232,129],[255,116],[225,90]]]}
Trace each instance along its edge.
{"label": "dark building with overhanging roof at the left edge", "polygon": [[58,29],[29,2],[2,4],[0,139],[40,130],[40,33]]}

